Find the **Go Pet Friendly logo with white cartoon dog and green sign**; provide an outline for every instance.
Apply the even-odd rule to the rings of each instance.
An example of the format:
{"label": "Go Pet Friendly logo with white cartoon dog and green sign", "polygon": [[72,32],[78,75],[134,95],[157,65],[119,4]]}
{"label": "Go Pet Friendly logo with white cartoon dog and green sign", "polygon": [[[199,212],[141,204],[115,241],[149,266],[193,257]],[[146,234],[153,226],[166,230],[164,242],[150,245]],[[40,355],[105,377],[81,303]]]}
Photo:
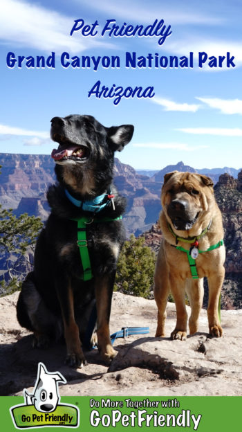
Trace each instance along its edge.
{"label": "Go Pet Friendly logo with white cartoon dog and green sign", "polygon": [[66,379],[61,373],[48,372],[44,363],[39,363],[33,393],[28,393],[25,388],[25,404],[10,408],[15,428],[79,426],[78,408],[70,404],[59,404],[59,382],[66,384]]}

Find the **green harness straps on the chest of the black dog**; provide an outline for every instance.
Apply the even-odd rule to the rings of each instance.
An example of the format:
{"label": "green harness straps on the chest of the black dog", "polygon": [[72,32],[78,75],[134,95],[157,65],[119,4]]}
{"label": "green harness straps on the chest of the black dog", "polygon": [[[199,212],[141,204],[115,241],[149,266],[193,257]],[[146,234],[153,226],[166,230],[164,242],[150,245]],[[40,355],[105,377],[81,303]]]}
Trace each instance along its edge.
{"label": "green harness straps on the chest of the black dog", "polygon": [[89,257],[89,249],[86,240],[86,225],[89,224],[97,224],[99,222],[113,222],[116,220],[121,220],[122,216],[118,217],[102,217],[101,219],[97,217],[93,217],[90,220],[90,217],[80,217],[76,219],[71,219],[77,222],[77,246],[79,247],[80,257],[82,261],[83,267],[83,277],[84,281],[91,280],[93,278],[93,273],[91,271],[91,261]]}

